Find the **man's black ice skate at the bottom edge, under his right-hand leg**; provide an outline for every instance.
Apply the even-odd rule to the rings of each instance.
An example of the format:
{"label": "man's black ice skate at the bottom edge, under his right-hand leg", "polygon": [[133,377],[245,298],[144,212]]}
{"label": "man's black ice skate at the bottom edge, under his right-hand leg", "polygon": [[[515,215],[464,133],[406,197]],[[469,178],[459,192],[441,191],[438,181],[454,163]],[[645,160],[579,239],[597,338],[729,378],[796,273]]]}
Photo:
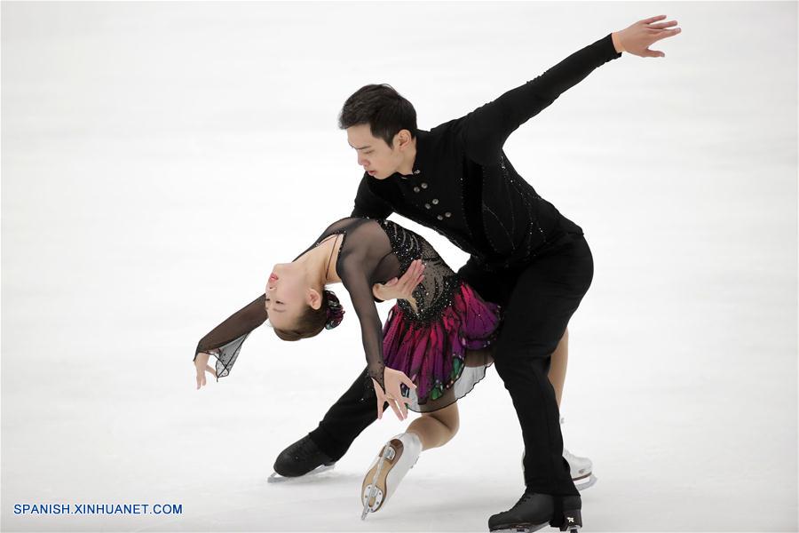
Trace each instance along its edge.
{"label": "man's black ice skate at the bottom edge, under his right-hand leg", "polygon": [[488,519],[488,530],[529,533],[550,524],[561,531],[577,533],[582,527],[580,510],[579,496],[553,497],[525,491],[510,510]]}

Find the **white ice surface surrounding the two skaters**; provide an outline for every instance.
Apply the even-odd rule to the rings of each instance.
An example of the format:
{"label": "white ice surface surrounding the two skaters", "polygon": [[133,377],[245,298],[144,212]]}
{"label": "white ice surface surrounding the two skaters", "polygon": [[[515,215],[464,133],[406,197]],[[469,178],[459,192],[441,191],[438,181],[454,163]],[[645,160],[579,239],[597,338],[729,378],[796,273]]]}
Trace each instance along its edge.
{"label": "white ice surface surrounding the two skaters", "polygon": [[[597,68],[505,146],[594,253],[561,409],[598,477],[585,530],[795,531],[793,2],[4,2],[2,529],[487,530],[523,490],[493,369],[361,522],[391,413],[332,473],[266,483],[363,368],[344,290],[340,328],[260,328],[200,391],[194,346],[351,211],[336,115],[361,85],[429,130],[661,13],[665,58]],[[47,503],[182,513],[14,513]]]}

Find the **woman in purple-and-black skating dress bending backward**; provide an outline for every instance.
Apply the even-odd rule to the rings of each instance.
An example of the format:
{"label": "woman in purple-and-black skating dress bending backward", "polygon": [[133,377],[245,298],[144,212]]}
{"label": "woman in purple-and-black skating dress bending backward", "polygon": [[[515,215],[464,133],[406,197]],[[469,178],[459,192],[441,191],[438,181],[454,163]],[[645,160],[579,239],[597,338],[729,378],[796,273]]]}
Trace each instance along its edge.
{"label": "woman in purple-and-black skating dress bending backward", "polygon": [[[373,286],[408,270],[414,288],[398,300],[382,328]],[[231,342],[212,349],[198,346],[198,387],[207,370],[218,377],[229,373],[244,339],[267,316],[283,340],[335,328],[344,310],[325,286],[336,282],[344,283],[360,320],[378,418],[385,402],[399,419],[407,418],[408,407],[423,413],[384,446],[369,469],[361,487],[365,518],[391,496],[422,449],[441,446],[455,435],[455,402],[493,362],[487,348],[500,324],[500,309],[461,281],[420,235],[391,220],[341,219],[294,261],[275,265],[264,297],[214,330],[233,336]],[[208,366],[210,354],[217,358],[216,371]]]}

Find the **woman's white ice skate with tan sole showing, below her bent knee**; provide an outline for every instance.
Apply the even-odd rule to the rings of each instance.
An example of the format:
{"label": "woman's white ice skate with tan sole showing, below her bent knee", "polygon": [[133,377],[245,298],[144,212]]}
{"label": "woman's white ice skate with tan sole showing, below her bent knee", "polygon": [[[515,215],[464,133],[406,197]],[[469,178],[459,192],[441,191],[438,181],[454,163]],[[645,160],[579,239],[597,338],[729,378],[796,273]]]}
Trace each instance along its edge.
{"label": "woman's white ice skate with tan sole showing, below her bent knee", "polygon": [[422,453],[422,442],[418,435],[403,433],[386,442],[372,462],[360,489],[365,520],[368,513],[375,513],[397,491],[399,481],[414,467]]}

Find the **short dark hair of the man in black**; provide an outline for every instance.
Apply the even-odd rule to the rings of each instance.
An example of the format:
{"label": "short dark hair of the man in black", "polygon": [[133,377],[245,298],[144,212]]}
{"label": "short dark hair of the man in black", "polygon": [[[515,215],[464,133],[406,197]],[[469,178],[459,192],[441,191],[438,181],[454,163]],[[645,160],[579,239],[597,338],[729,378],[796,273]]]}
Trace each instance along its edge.
{"label": "short dark hair of the man in black", "polygon": [[416,137],[416,110],[391,85],[365,85],[344,102],[338,115],[342,130],[359,124],[369,124],[372,136],[391,147],[399,130],[408,130]]}

